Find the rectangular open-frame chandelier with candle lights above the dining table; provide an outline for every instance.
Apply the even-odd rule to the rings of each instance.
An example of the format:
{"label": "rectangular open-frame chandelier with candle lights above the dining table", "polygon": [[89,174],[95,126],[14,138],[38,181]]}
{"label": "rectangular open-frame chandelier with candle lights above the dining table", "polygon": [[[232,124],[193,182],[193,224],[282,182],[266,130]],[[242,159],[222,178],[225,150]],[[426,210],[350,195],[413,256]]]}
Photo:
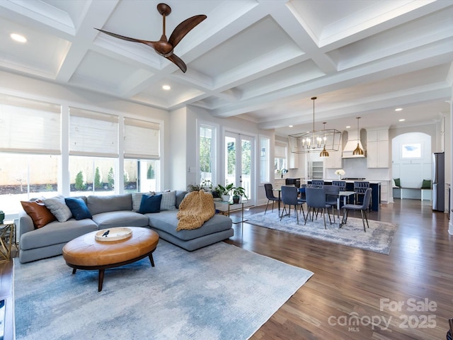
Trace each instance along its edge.
{"label": "rectangular open-frame chandelier with candle lights above the dining table", "polygon": [[293,154],[308,154],[319,152],[319,157],[329,157],[329,151],[338,151],[341,145],[341,132],[336,129],[326,129],[323,123],[323,130],[314,130],[314,101],[313,101],[313,130],[304,133],[289,135],[289,149]]}

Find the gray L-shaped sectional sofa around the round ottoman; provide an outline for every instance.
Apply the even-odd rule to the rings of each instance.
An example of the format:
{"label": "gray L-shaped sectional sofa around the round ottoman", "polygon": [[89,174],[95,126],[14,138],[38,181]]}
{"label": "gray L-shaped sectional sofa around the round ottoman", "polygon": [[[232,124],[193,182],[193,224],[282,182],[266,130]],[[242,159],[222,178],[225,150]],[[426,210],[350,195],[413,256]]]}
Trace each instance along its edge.
{"label": "gray L-shaped sectional sofa around the round ottoman", "polygon": [[18,228],[19,259],[21,263],[25,263],[60,255],[64,244],[71,239],[88,232],[111,227],[150,227],[159,234],[161,239],[188,251],[233,236],[234,229],[231,228],[231,219],[224,215],[214,215],[198,229],[177,232],[176,214],[186,193],[185,191],[165,193],[166,198],[170,200],[166,200],[165,203],[164,200],[162,201],[161,211],[145,214],[137,212],[143,193],[87,196],[82,199],[91,212],[92,218],[75,220],[71,217],[65,222],[55,220],[38,229],[35,228],[30,215],[21,211]]}

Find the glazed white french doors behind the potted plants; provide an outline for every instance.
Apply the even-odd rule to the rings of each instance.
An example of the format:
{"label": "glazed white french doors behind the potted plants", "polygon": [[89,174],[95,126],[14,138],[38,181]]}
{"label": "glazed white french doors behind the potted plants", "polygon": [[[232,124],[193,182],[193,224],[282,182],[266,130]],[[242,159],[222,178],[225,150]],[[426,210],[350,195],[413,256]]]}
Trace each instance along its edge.
{"label": "glazed white french doors behind the potted plants", "polygon": [[255,140],[251,136],[234,132],[225,132],[224,140],[224,176],[225,184],[234,183],[245,189],[248,202],[253,205],[255,174]]}

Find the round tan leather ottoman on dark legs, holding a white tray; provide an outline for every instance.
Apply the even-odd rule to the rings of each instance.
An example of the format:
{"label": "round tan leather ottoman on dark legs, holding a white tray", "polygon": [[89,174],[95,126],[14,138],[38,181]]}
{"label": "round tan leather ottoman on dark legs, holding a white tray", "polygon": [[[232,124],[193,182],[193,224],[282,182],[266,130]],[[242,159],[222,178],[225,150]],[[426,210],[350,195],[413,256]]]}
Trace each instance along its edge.
{"label": "round tan leather ottoman on dark legs, holding a white tray", "polygon": [[[124,266],[149,256],[154,267],[153,251],[159,242],[159,235],[145,227],[127,227],[132,236],[117,241],[102,242],[96,232],[84,234],[63,247],[63,258],[75,274],[77,269],[98,270],[98,292],[102,290],[104,271],[107,268]],[[108,229],[105,229],[107,231]]]}

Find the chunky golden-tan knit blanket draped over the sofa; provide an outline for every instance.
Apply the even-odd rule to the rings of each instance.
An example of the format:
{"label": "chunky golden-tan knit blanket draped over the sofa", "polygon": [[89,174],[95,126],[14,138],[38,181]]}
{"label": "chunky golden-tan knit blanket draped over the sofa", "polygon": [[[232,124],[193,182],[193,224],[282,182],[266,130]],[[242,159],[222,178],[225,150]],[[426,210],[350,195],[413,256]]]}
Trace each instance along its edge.
{"label": "chunky golden-tan knit blanket draped over the sofa", "polygon": [[215,214],[214,198],[204,191],[192,191],[179,205],[178,227],[183,229],[197,229]]}

